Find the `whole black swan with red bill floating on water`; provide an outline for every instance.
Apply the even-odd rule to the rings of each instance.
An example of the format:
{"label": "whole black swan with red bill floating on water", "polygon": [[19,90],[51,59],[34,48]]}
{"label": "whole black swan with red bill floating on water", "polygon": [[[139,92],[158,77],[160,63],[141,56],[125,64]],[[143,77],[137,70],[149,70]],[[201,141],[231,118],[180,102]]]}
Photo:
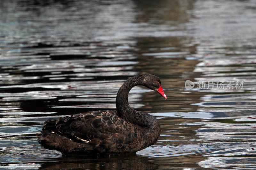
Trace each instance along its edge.
{"label": "whole black swan with red bill floating on water", "polygon": [[132,87],[143,85],[167,98],[158,77],[142,74],[129,78],[116,95],[116,110],[99,110],[60,117],[44,122],[36,134],[47,149],[68,153],[135,153],[156,143],[160,124],[148,113],[128,104]]}

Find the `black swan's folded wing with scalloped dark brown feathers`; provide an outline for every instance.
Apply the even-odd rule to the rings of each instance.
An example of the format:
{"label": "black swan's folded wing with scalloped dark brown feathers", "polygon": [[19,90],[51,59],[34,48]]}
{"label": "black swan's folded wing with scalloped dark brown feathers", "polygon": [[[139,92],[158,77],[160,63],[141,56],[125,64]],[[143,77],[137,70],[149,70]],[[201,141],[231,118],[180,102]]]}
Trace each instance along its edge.
{"label": "black swan's folded wing with scalloped dark brown feathers", "polygon": [[98,146],[110,143],[131,143],[136,128],[117,116],[116,111],[100,110],[48,120],[43,131],[56,133],[77,143]]}

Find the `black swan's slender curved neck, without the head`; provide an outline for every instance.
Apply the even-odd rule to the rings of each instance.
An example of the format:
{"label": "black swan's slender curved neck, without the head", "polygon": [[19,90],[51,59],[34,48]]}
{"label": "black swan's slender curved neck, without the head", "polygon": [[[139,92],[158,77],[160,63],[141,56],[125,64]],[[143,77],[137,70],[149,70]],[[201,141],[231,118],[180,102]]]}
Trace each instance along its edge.
{"label": "black swan's slender curved neck, without the head", "polygon": [[143,75],[129,78],[119,88],[116,95],[116,110],[119,117],[125,119],[126,121],[149,128],[156,124],[156,118],[147,113],[138,112],[132,109],[128,103],[128,94],[132,87],[136,85],[143,85],[141,78],[143,78]]}

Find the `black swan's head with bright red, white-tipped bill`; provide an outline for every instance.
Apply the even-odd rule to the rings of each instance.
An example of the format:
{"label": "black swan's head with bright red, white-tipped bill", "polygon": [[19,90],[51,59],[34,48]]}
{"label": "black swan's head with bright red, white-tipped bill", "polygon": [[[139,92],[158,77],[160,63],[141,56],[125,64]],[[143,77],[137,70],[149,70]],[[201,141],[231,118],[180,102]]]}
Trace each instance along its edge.
{"label": "black swan's head with bright red, white-tipped bill", "polygon": [[161,94],[164,99],[167,99],[166,95],[164,94],[164,90],[161,85],[161,80],[152,75],[152,74],[144,74],[143,78],[141,79],[144,86],[148,87],[151,90],[154,90]]}

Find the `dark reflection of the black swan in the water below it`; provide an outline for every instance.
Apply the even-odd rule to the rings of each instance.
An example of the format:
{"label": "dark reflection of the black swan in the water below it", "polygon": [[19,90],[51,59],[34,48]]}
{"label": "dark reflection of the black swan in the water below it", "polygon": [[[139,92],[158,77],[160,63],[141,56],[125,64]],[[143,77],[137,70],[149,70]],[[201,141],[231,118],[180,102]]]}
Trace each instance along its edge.
{"label": "dark reflection of the black swan in the water below it", "polygon": [[49,163],[41,165],[39,169],[158,169],[157,164],[150,162],[148,157],[140,157],[136,154],[83,156],[65,155],[59,159],[47,160]]}

